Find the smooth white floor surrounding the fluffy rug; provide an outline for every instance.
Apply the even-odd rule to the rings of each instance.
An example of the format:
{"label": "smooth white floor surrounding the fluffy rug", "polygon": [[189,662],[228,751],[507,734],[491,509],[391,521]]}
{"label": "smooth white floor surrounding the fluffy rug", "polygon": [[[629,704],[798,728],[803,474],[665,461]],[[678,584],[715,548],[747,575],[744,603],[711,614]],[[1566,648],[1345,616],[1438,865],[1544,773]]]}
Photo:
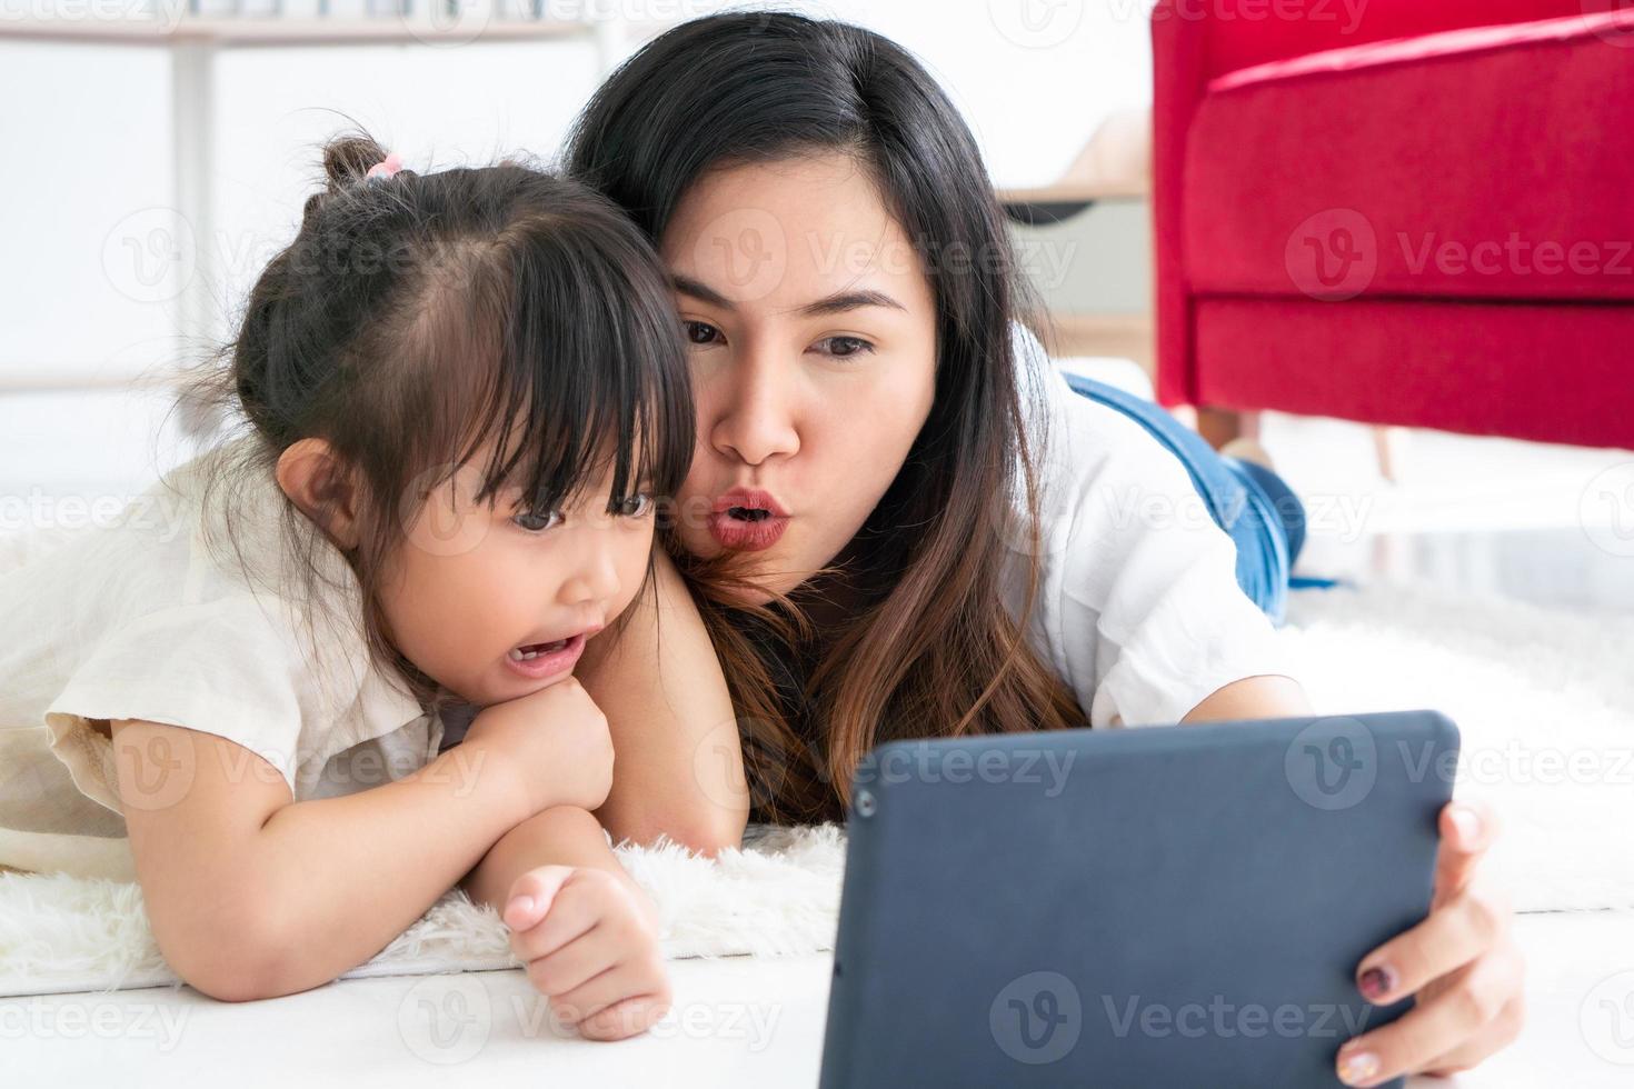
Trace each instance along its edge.
{"label": "smooth white floor surrounding the fluffy rug", "polygon": [[[0,529],[95,518],[106,496],[139,491],[185,451],[150,438],[162,413],[127,393],[0,397]],[[1356,424],[1271,415],[1263,439],[1312,511],[1304,575],[1430,576],[1547,607],[1634,611],[1634,452],[1412,433],[1405,478],[1391,485]],[[1526,1035],[1476,1073],[1413,1089],[1634,1084],[1634,913],[1531,914],[1518,931]],[[552,1032],[518,971],[340,981],[248,1006],[191,989],[0,999],[0,1084],[108,1071],[167,1087],[413,1086],[467,1071],[495,1086],[815,1084],[827,957],[673,971],[676,1012],[616,1045]]]}

